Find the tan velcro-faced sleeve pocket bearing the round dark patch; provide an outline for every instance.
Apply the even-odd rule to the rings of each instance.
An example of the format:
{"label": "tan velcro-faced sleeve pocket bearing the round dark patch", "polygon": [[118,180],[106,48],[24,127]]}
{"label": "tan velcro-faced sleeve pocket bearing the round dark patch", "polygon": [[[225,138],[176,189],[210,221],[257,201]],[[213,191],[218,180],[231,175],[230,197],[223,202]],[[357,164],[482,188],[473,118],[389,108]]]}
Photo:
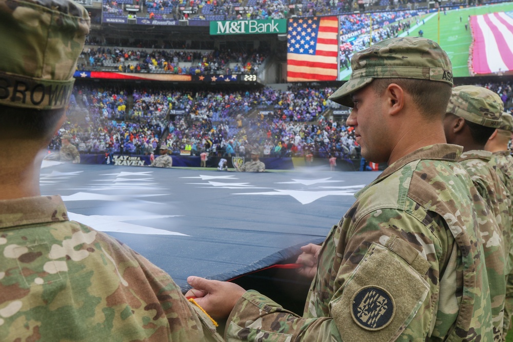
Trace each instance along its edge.
{"label": "tan velcro-faced sleeve pocket bearing the round dark patch", "polygon": [[342,340],[393,341],[428,293],[427,281],[402,256],[374,243],[349,276],[340,298],[331,303],[331,315]]}

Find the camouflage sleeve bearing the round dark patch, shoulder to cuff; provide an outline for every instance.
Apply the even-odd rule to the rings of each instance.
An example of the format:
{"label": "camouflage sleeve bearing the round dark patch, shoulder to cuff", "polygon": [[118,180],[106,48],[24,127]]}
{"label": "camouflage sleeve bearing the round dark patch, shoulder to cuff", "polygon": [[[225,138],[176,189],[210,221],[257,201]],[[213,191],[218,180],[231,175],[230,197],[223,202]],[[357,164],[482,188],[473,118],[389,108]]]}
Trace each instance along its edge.
{"label": "camouflage sleeve bearing the round dark patch, shoulder to cuff", "polygon": [[444,336],[458,315],[457,286],[445,292],[449,303],[439,305],[438,265],[457,272],[456,262],[448,262],[453,240],[439,223],[426,227],[404,212],[375,210],[357,226],[334,227],[303,317],[248,291],[230,314],[226,340],[424,340],[447,324],[436,320],[437,309],[447,309],[448,327],[434,332]]}

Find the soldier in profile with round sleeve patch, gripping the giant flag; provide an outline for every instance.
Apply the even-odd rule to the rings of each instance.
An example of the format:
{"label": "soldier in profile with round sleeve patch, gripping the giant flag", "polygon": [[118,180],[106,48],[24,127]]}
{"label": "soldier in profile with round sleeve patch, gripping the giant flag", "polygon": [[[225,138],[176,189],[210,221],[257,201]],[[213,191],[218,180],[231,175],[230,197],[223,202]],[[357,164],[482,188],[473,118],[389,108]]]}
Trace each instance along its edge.
{"label": "soldier in profile with round sleeve patch, gripping the giant flag", "polygon": [[347,124],[362,155],[389,167],[312,253],[303,316],[200,277],[189,277],[189,294],[229,314],[227,340],[493,340],[478,236],[498,228],[457,163],[461,147],[444,144],[447,54],[425,38],[392,38],[354,54],[351,67],[330,99],[354,107]]}

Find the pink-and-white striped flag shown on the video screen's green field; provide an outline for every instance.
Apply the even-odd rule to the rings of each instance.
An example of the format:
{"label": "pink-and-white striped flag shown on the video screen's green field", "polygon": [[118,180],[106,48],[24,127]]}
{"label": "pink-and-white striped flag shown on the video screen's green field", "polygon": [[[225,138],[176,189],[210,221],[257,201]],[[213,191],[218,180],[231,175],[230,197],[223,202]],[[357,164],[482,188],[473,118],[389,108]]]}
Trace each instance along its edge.
{"label": "pink-and-white striped flag shown on the video screen's green field", "polygon": [[[489,74],[513,70],[512,12],[491,13],[470,17],[473,34],[472,71]],[[509,14],[509,15],[508,15]]]}

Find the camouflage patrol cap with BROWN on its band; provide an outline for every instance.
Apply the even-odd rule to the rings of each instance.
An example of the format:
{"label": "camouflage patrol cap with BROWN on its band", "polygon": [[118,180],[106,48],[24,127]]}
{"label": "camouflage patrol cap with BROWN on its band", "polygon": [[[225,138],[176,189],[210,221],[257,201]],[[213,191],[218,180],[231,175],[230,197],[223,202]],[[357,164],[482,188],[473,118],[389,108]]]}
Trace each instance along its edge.
{"label": "camouflage patrol cap with BROWN on its band", "polygon": [[89,25],[71,0],[0,0],[0,104],[64,108]]}

